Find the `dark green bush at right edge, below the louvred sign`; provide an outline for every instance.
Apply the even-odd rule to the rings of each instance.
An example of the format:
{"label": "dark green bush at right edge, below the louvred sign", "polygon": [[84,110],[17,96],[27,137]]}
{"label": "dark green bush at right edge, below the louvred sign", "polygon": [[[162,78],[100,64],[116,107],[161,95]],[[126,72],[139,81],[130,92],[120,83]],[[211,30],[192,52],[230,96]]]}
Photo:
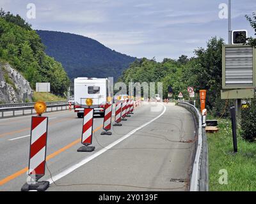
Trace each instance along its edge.
{"label": "dark green bush at right edge, below the louvred sign", "polygon": [[241,116],[241,134],[245,140],[250,142],[256,139],[256,100],[253,99],[248,108],[242,110]]}

